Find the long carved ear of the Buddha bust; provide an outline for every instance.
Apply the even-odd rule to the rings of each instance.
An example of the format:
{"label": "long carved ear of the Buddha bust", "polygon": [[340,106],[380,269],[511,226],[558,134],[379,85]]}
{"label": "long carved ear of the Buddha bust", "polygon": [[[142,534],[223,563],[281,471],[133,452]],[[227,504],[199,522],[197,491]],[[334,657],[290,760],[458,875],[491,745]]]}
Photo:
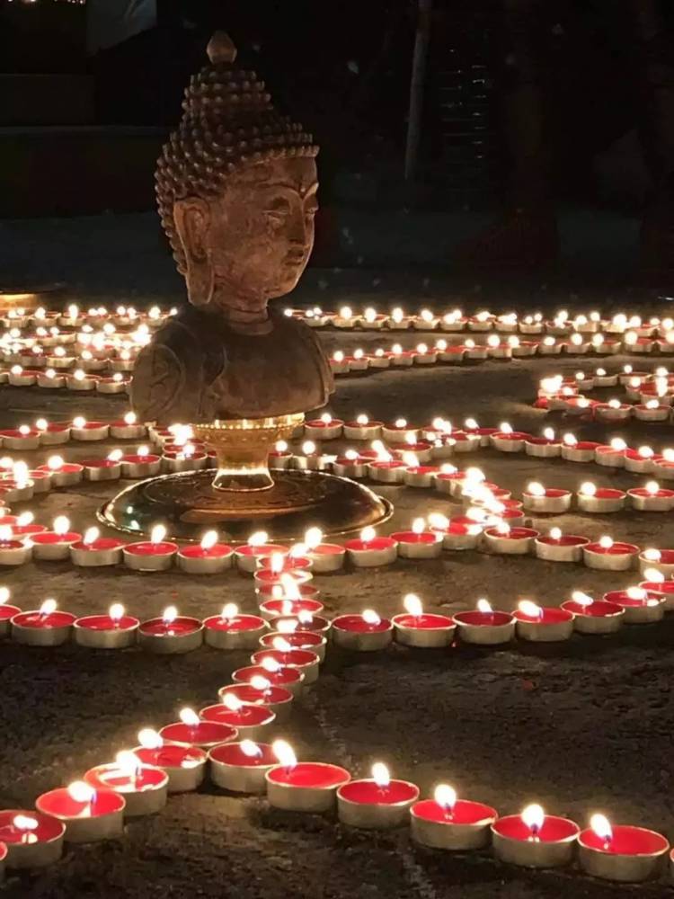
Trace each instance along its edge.
{"label": "long carved ear of the Buddha bust", "polygon": [[214,272],[208,252],[210,210],[206,200],[177,200],[173,207],[175,228],[182,243],[187,271],[187,293],[193,306],[208,306],[213,298]]}

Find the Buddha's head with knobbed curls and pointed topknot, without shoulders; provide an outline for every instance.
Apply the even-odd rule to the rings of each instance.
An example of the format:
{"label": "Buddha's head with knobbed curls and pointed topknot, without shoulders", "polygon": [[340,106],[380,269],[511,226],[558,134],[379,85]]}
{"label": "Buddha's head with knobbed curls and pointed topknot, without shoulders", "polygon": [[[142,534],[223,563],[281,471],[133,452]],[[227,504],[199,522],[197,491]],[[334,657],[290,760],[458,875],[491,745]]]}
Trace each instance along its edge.
{"label": "Buddha's head with knobbed curls and pointed topknot, without shoulders", "polygon": [[274,109],[254,72],[235,68],[224,31],[208,58],[157,163],[157,203],[191,303],[254,325],[311,254],[318,147]]}

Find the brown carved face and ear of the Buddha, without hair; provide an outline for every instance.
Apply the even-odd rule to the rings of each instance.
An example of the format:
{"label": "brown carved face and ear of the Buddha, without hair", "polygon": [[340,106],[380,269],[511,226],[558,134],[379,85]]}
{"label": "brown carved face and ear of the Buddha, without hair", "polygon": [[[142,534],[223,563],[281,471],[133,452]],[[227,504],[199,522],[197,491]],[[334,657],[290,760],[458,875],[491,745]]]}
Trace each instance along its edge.
{"label": "brown carved face and ear of the Buddha, without hair", "polygon": [[214,199],[177,200],[175,226],[191,302],[231,320],[266,317],[270,298],[292,290],[314,245],[315,160],[266,160],[228,175]]}

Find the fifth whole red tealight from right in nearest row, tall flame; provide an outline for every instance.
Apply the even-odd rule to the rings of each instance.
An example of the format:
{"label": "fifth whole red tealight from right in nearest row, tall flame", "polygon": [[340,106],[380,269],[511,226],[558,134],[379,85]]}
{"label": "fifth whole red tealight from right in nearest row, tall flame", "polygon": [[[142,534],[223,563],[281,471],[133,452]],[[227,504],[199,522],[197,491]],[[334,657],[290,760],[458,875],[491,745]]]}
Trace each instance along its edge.
{"label": "fifth whole red tealight from right in nearest row, tall flame", "polygon": [[350,780],[349,771],[322,761],[297,761],[284,740],[272,743],[279,764],[265,774],[270,806],[289,812],[329,812],[335,794]]}

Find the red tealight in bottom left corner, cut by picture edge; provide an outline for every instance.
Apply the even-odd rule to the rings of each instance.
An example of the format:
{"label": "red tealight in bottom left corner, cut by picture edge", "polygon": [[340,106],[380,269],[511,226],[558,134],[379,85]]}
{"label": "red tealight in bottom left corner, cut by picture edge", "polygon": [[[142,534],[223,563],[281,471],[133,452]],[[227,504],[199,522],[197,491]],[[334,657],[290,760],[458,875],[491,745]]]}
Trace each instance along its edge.
{"label": "red tealight in bottom left corner, cut by picture edge", "polygon": [[61,858],[66,825],[41,812],[0,811],[0,841],[8,868],[47,868]]}

